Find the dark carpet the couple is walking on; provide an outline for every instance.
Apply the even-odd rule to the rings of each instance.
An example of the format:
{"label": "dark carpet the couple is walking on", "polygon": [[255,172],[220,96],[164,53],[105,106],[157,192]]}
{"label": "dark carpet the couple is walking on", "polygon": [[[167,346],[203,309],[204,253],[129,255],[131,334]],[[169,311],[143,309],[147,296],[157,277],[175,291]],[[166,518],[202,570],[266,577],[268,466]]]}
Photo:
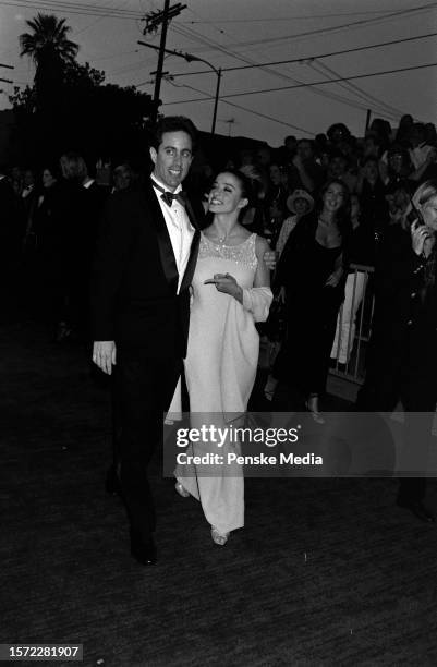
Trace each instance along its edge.
{"label": "dark carpet the couple is walking on", "polygon": [[83,643],[106,667],[437,664],[437,527],[396,508],[394,480],[250,478],[220,548],[157,457],[144,569],[104,490],[109,395],[87,351],[7,325],[0,367],[0,643]]}

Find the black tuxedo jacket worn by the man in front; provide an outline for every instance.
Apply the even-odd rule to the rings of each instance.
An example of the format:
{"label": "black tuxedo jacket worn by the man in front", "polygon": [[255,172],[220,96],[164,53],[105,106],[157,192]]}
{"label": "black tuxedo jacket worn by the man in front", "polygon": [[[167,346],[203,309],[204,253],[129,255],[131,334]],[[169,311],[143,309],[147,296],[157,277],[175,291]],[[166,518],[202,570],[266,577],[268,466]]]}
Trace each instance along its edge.
{"label": "black tuxedo jacket worn by the man in front", "polygon": [[92,276],[94,340],[116,340],[118,349],[141,348],[155,359],[185,356],[203,209],[194,213],[187,202],[186,211],[195,233],[177,294],[177,264],[151,184],[109,197]]}

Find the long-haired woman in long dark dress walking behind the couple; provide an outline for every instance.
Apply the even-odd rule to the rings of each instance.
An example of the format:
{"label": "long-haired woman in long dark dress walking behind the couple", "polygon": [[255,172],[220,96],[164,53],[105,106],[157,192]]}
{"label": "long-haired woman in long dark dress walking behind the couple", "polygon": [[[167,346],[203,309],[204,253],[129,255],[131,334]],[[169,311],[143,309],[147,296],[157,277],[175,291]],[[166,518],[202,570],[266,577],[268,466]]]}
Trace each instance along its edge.
{"label": "long-haired woman in long dark dress walking behind the couple", "polygon": [[274,376],[292,384],[315,422],[325,391],[337,315],[344,295],[345,248],[351,233],[350,195],[342,181],[323,187],[314,213],[291,232],[276,286],[286,288],[288,335]]}

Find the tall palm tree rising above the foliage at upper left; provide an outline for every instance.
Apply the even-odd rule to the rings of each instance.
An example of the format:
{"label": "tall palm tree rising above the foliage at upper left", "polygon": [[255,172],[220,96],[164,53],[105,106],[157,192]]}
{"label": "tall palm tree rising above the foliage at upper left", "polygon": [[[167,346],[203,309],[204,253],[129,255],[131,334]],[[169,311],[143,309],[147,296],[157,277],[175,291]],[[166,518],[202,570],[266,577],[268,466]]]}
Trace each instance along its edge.
{"label": "tall palm tree rising above the foliage at upper left", "polygon": [[74,62],[78,45],[68,39],[71,27],[65,19],[37,14],[26,21],[33,33],[20,35],[21,56],[29,56],[36,64],[35,88],[37,105],[50,106],[59,94],[65,66]]}

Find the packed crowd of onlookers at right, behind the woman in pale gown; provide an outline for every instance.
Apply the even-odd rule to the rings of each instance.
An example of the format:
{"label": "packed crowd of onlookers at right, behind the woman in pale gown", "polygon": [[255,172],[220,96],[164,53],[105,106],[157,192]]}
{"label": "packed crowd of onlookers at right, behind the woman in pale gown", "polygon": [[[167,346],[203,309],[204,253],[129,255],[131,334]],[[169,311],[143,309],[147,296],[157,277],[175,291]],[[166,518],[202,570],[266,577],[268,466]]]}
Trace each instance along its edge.
{"label": "packed crowd of onlookers at right, behind the woman in pale gown", "polygon": [[[369,232],[362,263],[373,264],[374,240],[401,220],[420,183],[437,174],[437,134],[432,123],[416,123],[411,116],[402,117],[397,130],[375,119],[364,138],[336,123],[314,140],[288,136],[276,150],[243,150],[229,165],[255,185],[256,199],[244,223],[269,237],[274,246],[279,240],[279,251],[283,222],[313,208],[327,180],[345,183],[357,197],[361,225]],[[286,227],[290,225],[289,220]]]}

